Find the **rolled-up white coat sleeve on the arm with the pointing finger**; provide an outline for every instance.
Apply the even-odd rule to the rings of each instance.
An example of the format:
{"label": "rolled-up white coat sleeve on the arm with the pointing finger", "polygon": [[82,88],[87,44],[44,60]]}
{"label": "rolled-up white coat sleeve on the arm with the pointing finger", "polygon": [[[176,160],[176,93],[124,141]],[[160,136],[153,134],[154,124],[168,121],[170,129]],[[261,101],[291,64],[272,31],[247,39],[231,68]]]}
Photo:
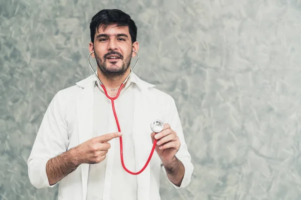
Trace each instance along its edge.
{"label": "rolled-up white coat sleeve on the arm with the pointing finger", "polygon": [[49,185],[46,163],[50,158],[65,152],[68,148],[69,140],[63,102],[64,98],[59,91],[45,112],[28,158],[29,179],[36,188],[56,185]]}

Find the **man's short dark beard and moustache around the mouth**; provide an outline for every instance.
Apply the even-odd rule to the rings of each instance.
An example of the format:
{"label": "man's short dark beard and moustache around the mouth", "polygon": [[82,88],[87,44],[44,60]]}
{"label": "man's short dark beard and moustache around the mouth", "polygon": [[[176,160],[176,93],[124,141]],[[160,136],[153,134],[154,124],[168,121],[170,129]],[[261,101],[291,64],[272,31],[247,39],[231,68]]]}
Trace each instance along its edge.
{"label": "man's short dark beard and moustache around the mouth", "polygon": [[[96,52],[94,51],[95,54],[95,59],[96,59],[96,63],[97,66],[99,67],[100,71],[102,72],[102,74],[107,78],[107,79],[117,79],[119,77],[122,77],[127,68],[130,65],[130,60],[131,60],[131,55],[132,55],[132,51],[125,57],[123,57],[119,52],[117,51],[110,51],[108,53],[106,53],[105,55],[103,55],[103,58],[101,58],[100,56],[98,56],[96,54]],[[107,64],[107,57],[109,55],[118,55],[122,61],[121,66],[117,66],[115,65],[118,61],[113,61]],[[113,66],[115,65],[115,66]]]}

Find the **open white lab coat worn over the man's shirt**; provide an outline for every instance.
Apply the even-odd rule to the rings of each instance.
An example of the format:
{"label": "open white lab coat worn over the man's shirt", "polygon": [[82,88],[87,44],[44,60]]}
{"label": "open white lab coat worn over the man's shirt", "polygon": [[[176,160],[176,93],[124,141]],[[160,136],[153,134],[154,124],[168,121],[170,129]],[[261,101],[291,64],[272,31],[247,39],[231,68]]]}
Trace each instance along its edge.
{"label": "open white lab coat worn over the man's shirt", "polygon": [[[180,186],[185,187],[190,182],[193,165],[175,101],[170,95],[154,88],[155,85],[139,79],[134,73],[131,76],[134,76],[138,83],[134,88],[134,102],[132,102],[135,105],[133,138],[136,169],[143,167],[152,149],[150,122],[160,119],[169,123],[180,137],[181,147],[176,156],[185,166],[185,175]],[[91,75],[77,82],[76,85],[59,91],[49,104],[28,159],[29,178],[35,187],[54,186],[49,185],[46,175],[46,163],[50,158],[92,138],[93,80],[95,77]],[[150,174],[160,174],[161,168],[165,172],[155,151],[148,166],[137,175],[138,200],[160,199],[159,189],[156,188],[158,184],[154,186],[154,183],[150,182]],[[89,164],[81,164],[61,179],[58,199],[86,199],[88,171]],[[156,178],[156,181],[160,181],[160,178]]]}

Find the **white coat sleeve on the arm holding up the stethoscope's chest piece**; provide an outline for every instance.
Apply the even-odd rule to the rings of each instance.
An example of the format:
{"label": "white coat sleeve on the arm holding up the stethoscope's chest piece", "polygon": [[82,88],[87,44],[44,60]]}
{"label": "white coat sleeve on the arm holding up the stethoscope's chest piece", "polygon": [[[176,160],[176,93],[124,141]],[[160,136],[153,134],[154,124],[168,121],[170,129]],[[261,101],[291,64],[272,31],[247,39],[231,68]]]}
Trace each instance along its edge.
{"label": "white coat sleeve on the arm holding up the stethoscope's chest piece", "polygon": [[[171,96],[170,96],[171,97]],[[183,133],[183,129],[182,129],[182,125],[181,125],[181,120],[179,117],[179,113],[175,104],[175,100],[171,97],[170,100],[170,107],[169,107],[169,115],[167,117],[167,120],[165,123],[169,123],[171,128],[177,132],[177,135],[180,138],[181,141],[181,146],[180,149],[178,150],[178,152],[176,153],[176,156],[179,160],[181,160],[181,162],[183,163],[184,167],[185,167],[185,173],[184,173],[184,178],[182,180],[182,183],[180,186],[175,185],[172,181],[170,181],[167,177],[167,173],[166,170],[164,168],[164,166],[162,165],[162,169],[165,173],[165,176],[167,177],[167,179],[178,189],[178,188],[184,188],[186,187],[191,180],[191,175],[193,172],[193,164],[191,163],[191,155],[188,152],[188,148],[187,148],[187,144],[185,142],[185,138],[184,138],[184,133]]]}

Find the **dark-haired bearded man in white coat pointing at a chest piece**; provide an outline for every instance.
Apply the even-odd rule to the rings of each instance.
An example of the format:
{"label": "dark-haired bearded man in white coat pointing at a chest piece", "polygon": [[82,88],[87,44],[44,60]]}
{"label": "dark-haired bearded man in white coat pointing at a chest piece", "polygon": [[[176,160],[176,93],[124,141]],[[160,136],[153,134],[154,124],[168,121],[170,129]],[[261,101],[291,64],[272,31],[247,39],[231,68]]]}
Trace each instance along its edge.
{"label": "dark-haired bearded man in white coat pointing at a chest piece", "polygon": [[[130,73],[130,60],[138,51],[137,27],[118,9],[105,9],[92,17],[89,50],[97,62],[97,75],[115,96]],[[110,100],[92,75],[59,91],[52,99],[38,131],[28,171],[37,188],[58,182],[58,199],[160,199],[160,170],[176,187],[185,187],[193,165],[187,150],[174,99],[134,73],[114,101],[118,132]],[[150,130],[154,119],[164,129]],[[140,170],[154,139],[155,153],[143,172],[132,175],[120,161],[123,139],[125,166]]]}

